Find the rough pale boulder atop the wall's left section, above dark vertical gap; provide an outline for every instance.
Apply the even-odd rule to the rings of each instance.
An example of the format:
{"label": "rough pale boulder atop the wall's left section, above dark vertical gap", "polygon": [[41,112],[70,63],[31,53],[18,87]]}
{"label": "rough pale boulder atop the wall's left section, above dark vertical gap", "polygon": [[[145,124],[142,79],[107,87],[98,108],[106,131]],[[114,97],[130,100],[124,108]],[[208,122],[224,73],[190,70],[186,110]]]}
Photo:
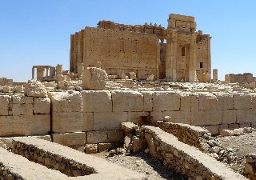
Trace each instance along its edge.
{"label": "rough pale boulder atop the wall's left section, above dark vertical gap", "polygon": [[36,80],[29,80],[25,85],[24,93],[26,96],[46,98],[47,91],[45,86],[42,85],[42,82]]}

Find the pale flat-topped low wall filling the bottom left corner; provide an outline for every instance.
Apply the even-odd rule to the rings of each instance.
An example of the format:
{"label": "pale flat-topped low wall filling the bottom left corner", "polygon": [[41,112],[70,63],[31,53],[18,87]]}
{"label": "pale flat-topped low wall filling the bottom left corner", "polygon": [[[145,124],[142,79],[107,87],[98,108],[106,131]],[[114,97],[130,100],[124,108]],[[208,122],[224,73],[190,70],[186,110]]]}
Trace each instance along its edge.
{"label": "pale flat-topped low wall filling the bottom left corner", "polygon": [[58,170],[30,162],[28,159],[0,148],[0,179],[58,180],[67,179]]}

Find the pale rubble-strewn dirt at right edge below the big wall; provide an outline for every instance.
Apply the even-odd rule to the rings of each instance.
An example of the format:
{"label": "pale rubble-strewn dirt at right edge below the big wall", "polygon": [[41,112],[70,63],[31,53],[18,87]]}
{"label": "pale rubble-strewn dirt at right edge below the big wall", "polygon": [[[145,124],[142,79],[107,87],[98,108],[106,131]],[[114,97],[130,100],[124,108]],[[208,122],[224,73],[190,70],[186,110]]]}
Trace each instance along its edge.
{"label": "pale rubble-strewn dirt at right edge below the big wall", "polygon": [[245,155],[256,153],[256,130],[252,133],[240,135],[240,136],[227,136],[217,138],[218,142],[223,147],[231,148],[234,151],[235,161],[230,164],[230,167],[242,174],[243,167],[245,165]]}

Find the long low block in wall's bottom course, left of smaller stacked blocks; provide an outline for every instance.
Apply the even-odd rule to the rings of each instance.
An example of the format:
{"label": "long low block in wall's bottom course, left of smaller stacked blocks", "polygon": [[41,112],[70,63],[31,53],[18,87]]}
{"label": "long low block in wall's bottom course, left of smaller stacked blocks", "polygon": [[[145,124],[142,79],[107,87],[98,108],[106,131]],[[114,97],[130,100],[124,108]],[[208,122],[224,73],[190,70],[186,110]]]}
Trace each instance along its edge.
{"label": "long low block in wall's bottom course, left of smaller stacked blocks", "polygon": [[86,144],[85,133],[52,134],[53,142],[63,146],[82,146]]}

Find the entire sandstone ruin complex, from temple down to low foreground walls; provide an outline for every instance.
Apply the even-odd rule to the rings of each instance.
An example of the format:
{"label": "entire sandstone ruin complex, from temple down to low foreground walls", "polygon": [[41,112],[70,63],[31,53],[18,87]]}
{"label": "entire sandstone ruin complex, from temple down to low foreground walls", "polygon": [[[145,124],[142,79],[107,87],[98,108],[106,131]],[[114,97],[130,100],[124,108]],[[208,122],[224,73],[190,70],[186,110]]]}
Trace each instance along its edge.
{"label": "entire sandstone ruin complex, from temple down to low foreground walls", "polygon": [[[211,79],[210,35],[195,28],[178,14],[166,29],[101,21],[71,35],[70,70],[1,78],[0,179],[146,179],[90,155],[103,151],[145,152],[189,179],[246,179],[214,136],[254,131],[256,90],[217,69]],[[248,154],[244,175],[255,172]]]}

